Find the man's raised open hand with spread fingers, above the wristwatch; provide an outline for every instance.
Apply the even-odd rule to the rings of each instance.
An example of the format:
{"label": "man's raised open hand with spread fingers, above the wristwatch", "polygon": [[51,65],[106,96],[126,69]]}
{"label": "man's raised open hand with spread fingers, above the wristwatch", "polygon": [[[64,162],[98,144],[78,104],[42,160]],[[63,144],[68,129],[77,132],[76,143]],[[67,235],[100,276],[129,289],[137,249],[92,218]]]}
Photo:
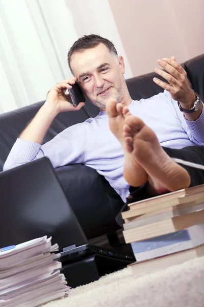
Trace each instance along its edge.
{"label": "man's raised open hand with spread fingers, above the wristwatch", "polygon": [[158,63],[166,72],[158,68],[155,69],[155,72],[166,79],[169,84],[158,78],[154,78],[154,82],[167,90],[174,100],[180,102],[183,108],[190,109],[197,98],[191,89],[186,71],[173,56],[158,60]]}

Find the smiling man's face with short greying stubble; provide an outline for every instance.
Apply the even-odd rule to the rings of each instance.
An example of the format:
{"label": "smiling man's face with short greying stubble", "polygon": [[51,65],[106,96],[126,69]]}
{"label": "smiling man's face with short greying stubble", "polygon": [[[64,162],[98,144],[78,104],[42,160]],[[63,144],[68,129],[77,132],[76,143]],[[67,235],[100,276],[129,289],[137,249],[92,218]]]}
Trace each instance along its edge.
{"label": "smiling man's face with short greying stubble", "polygon": [[101,110],[109,98],[121,102],[125,88],[123,58],[116,58],[103,43],[74,53],[71,68],[84,94]]}

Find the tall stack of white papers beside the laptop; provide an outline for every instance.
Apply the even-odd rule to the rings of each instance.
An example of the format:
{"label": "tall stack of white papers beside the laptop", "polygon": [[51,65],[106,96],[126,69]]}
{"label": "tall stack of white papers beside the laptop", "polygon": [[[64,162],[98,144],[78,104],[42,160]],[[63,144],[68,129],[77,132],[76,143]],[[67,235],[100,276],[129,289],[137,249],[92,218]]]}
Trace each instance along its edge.
{"label": "tall stack of white papers beside the laptop", "polygon": [[0,306],[36,307],[68,294],[51,237],[0,249]]}

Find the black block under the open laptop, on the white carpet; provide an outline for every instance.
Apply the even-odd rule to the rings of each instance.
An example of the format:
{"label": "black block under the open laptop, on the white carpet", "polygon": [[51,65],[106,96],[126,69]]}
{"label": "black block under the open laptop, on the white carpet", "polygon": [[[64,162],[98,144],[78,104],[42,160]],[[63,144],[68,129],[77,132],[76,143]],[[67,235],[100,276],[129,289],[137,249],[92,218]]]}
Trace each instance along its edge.
{"label": "black block under the open laptop, on the white carpet", "polygon": [[61,272],[65,275],[68,286],[76,288],[98,280],[105,274],[123,269],[132,262],[94,254],[78,261],[64,262]]}

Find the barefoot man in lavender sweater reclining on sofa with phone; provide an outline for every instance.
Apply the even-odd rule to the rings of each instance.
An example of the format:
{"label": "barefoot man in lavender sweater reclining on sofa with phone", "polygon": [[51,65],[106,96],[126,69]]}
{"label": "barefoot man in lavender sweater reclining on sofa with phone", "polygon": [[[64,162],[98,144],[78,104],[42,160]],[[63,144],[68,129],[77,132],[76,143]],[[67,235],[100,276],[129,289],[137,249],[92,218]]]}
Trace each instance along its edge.
{"label": "barefoot man in lavender sweater reclining on sofa with phone", "polygon": [[[156,70],[169,84],[154,78],[168,92],[140,101],[132,100],[123,77],[123,58],[109,40],[83,36],[69,50],[68,64],[74,78],[48,92],[46,102],[14,144],[4,170],[43,156],[49,157],[54,167],[86,164],[104,175],[124,202],[130,185],[144,184],[161,193],[204,183],[201,170],[184,168],[170,158],[204,162],[203,105],[175,58],[159,61],[166,72]],[[76,81],[99,107],[99,115],[68,127],[41,145],[57,114],[78,111],[84,105],[74,107],[67,101],[65,91]]]}

